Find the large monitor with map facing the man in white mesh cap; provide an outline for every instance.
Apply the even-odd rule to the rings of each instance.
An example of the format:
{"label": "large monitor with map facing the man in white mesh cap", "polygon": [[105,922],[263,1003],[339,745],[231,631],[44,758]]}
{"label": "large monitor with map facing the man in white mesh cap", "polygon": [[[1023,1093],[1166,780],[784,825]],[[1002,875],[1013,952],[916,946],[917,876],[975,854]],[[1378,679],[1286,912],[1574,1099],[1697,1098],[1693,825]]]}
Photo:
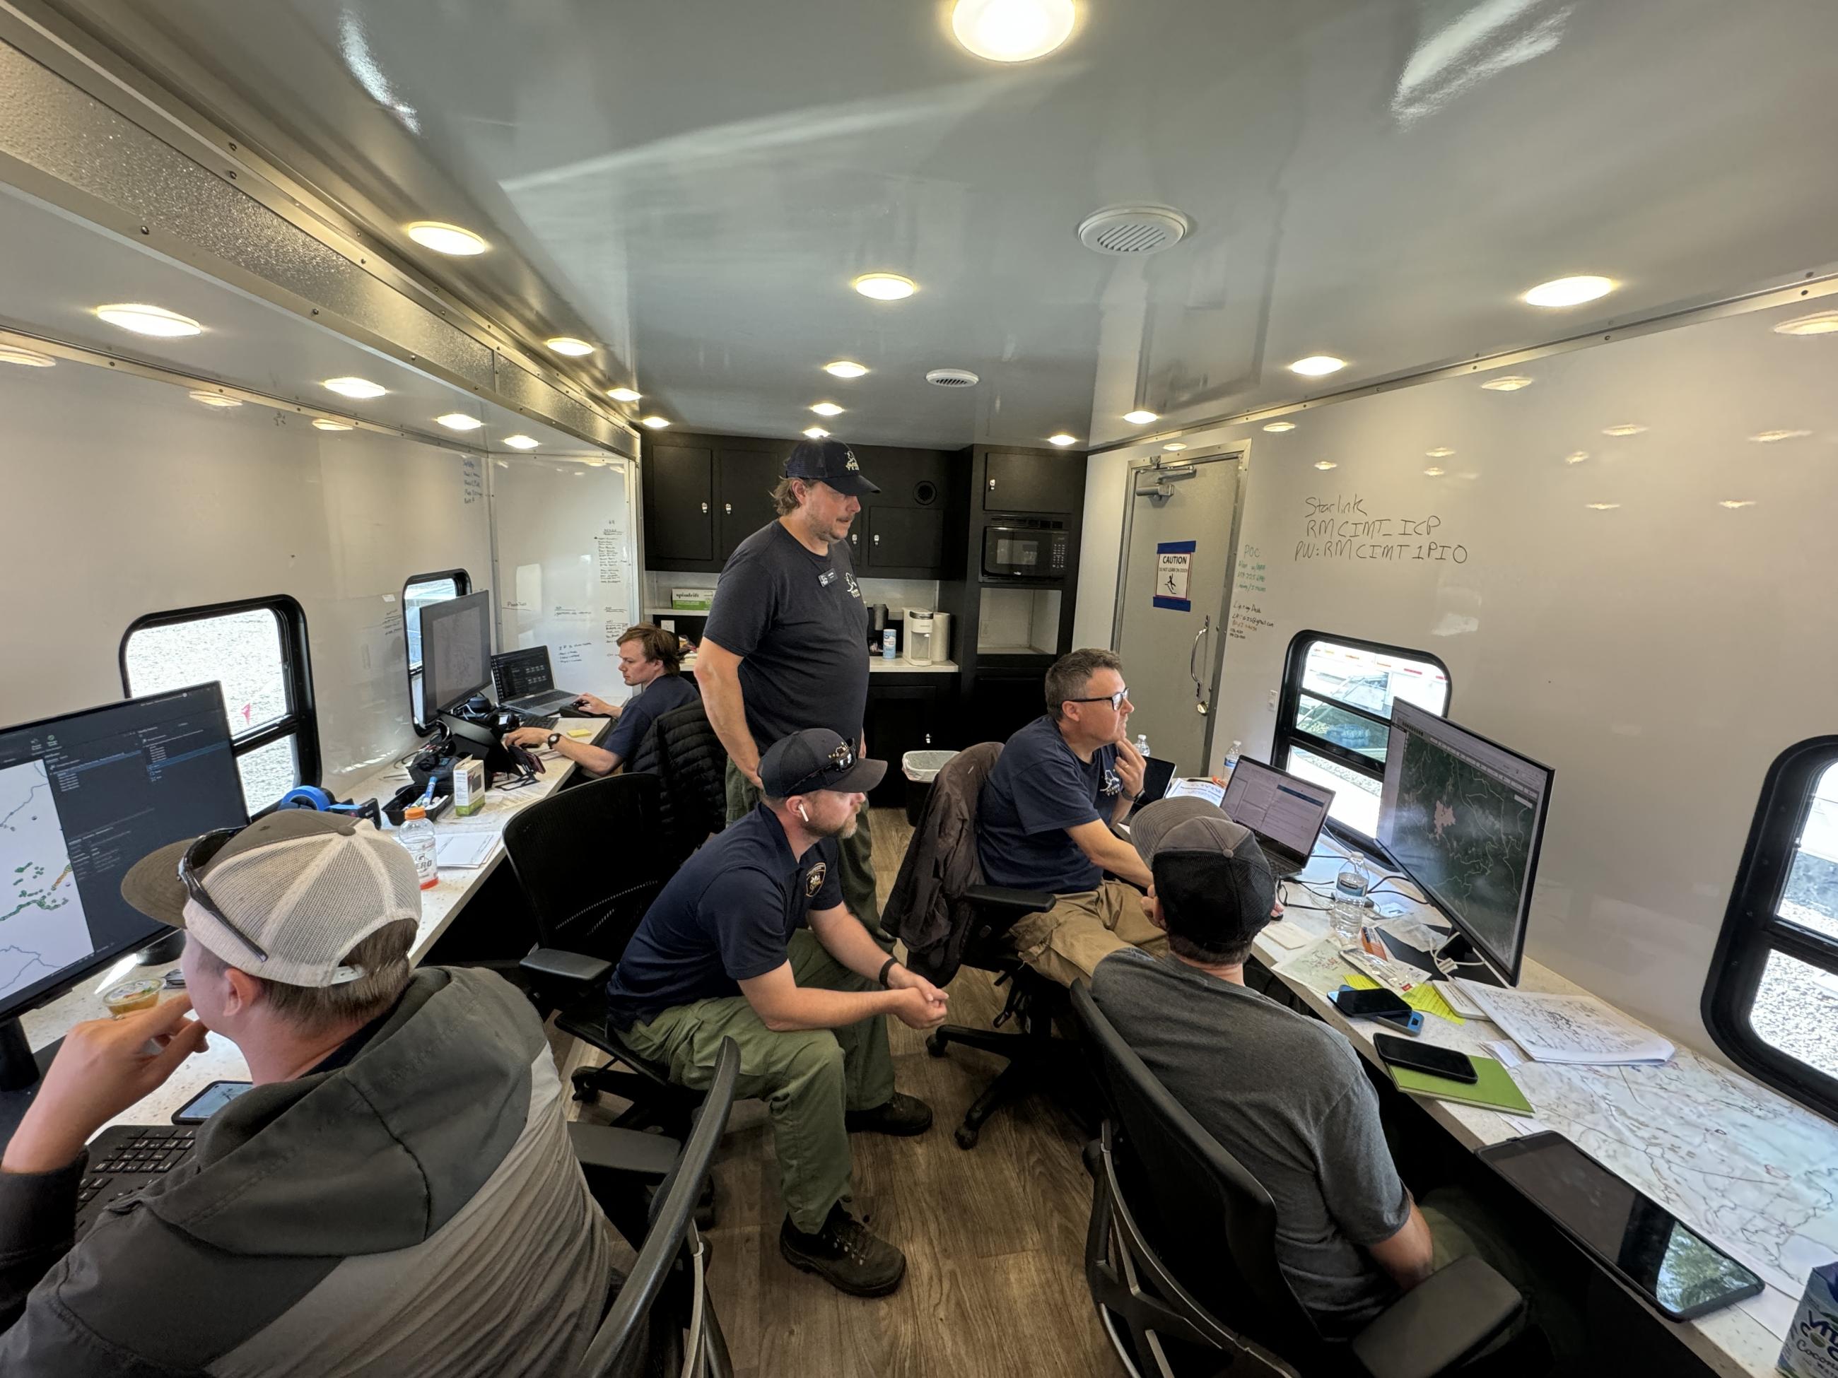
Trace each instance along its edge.
{"label": "large monitor with map facing the man in white mesh cap", "polygon": [[0,729],[0,1023],[167,932],[134,862],[244,823],[217,683]]}

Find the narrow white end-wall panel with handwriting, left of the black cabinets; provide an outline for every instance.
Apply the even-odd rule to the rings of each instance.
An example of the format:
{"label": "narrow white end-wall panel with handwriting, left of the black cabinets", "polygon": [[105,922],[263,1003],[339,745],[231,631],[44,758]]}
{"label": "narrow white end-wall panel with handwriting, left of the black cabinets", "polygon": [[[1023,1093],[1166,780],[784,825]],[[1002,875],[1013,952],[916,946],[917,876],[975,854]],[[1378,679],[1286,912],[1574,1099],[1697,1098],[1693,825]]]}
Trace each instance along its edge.
{"label": "narrow white end-wall panel with handwriting, left of the black cabinets", "polygon": [[619,632],[640,619],[625,459],[493,457],[496,647],[550,649],[561,689],[623,704]]}

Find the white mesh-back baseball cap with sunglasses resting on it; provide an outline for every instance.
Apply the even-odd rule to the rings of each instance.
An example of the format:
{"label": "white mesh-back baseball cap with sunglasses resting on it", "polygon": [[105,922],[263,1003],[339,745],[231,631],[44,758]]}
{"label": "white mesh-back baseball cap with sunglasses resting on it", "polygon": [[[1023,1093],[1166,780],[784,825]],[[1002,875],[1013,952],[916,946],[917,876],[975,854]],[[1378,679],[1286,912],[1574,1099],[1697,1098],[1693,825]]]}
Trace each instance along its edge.
{"label": "white mesh-back baseball cap with sunglasses resting on it", "polygon": [[265,981],[355,981],[364,970],[344,965],[351,948],[397,919],[421,919],[408,849],[373,827],[358,829],[355,818],[279,808],[232,834],[195,873],[221,915],[199,904],[178,873],[197,841],[142,856],[121,878],[121,898]]}

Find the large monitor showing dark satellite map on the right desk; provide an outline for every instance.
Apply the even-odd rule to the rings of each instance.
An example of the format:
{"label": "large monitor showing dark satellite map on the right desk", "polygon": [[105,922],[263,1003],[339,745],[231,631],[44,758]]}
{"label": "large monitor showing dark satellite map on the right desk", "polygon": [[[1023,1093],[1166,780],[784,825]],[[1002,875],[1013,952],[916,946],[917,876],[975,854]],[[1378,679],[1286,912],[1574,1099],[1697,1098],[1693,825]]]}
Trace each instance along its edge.
{"label": "large monitor showing dark satellite map on the right desk", "polygon": [[[1549,799],[1549,766],[1402,698],[1391,704],[1378,845],[1509,985],[1526,954]],[[1485,979],[1480,966],[1458,974]]]}

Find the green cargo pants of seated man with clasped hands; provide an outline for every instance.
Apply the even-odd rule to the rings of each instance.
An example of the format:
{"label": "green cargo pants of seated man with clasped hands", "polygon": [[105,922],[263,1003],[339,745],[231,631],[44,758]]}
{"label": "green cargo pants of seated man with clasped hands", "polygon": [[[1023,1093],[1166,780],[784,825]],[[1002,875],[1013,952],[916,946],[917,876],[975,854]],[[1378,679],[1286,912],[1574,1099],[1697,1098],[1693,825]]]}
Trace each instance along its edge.
{"label": "green cargo pants of seated man with clasped hands", "polygon": [[[879,990],[829,955],[816,933],[790,941],[792,977],[820,990]],[[779,1158],[779,1194],[792,1224],[814,1235],[829,1209],[849,1194],[845,1110],[873,1110],[893,1099],[893,1055],[880,1016],[842,1029],[774,1033],[746,996],[675,1005],[625,1031],[641,1058],[669,1067],[680,1086],[706,1090],[715,1077],[720,1040],[741,1047],[735,1095],[765,1101]]]}

